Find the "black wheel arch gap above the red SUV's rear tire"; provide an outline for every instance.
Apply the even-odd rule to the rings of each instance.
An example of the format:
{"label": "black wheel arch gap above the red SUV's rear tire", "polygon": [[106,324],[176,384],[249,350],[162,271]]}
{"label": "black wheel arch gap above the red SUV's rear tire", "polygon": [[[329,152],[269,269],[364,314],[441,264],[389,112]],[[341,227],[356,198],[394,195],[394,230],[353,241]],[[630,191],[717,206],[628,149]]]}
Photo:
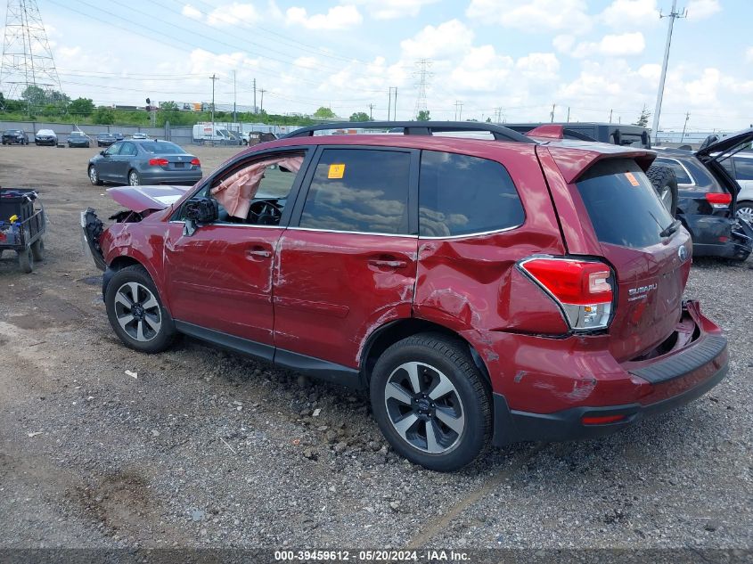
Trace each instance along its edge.
{"label": "black wheel arch gap above the red SUV's rear tire", "polygon": [[376,364],[377,359],[385,350],[397,343],[397,341],[399,340],[406,339],[419,333],[427,332],[441,333],[443,335],[462,341],[462,343],[464,343],[468,347],[474,364],[476,364],[479,372],[481,372],[481,374],[483,375],[484,381],[486,381],[489,388],[489,392],[491,392],[492,380],[489,376],[487,364],[479,355],[479,352],[476,350],[476,348],[473,347],[471,342],[469,342],[468,339],[464,339],[462,335],[457,331],[453,331],[445,325],[431,322],[420,317],[408,317],[390,321],[388,323],[384,323],[383,325],[372,331],[372,333],[365,340],[364,347],[359,358],[358,366],[360,367],[361,377],[363,381],[368,384],[369,380],[371,380],[371,374],[374,368],[374,364]]}

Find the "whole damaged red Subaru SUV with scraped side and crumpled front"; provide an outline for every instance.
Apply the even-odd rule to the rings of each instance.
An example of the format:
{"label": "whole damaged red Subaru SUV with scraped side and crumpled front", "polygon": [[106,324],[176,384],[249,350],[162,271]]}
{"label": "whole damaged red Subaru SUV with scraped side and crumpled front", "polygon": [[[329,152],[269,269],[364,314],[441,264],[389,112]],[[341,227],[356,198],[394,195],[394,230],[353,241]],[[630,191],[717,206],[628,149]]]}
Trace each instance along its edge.
{"label": "whole damaged red Subaru SUV with scraped side and crumpled front", "polygon": [[[314,135],[341,127],[404,135]],[[727,345],[683,302],[692,242],[644,175],[655,154],[551,128],[306,127],[190,189],[112,188],[112,225],[82,214],[112,328],[366,388],[389,443],[432,470],[690,402]]]}

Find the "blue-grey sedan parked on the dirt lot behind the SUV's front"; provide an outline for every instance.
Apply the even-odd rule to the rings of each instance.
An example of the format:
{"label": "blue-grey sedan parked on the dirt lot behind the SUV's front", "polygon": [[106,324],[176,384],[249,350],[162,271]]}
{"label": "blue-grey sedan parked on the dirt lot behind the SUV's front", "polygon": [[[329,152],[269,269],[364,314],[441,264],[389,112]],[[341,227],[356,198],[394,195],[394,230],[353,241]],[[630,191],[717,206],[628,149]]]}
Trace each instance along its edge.
{"label": "blue-grey sedan parked on the dirt lot behind the SUV's front", "polygon": [[156,139],[125,139],[89,160],[92,184],[188,184],[201,180],[201,162],[182,147]]}

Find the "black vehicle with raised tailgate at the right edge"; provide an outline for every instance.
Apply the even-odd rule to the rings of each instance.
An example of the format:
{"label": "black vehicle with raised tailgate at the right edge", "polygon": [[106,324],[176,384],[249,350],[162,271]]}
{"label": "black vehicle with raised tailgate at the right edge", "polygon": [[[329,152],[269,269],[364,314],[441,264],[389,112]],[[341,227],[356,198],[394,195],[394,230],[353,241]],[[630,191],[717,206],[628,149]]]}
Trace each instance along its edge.
{"label": "black vehicle with raised tailgate at the right edge", "polygon": [[696,257],[745,260],[753,249],[753,227],[735,218],[740,185],[725,163],[753,141],[753,128],[699,151],[656,147],[656,165],[672,168],[677,179],[676,217],[692,236]]}

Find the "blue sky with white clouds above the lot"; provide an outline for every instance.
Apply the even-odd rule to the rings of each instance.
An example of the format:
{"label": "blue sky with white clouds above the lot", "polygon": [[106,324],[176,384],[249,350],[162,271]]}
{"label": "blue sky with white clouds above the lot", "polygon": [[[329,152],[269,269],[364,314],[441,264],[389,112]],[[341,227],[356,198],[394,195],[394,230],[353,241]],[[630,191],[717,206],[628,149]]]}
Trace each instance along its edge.
{"label": "blue sky with white clouds above the lot", "polygon": [[[671,0],[37,0],[61,86],[97,103],[329,106],[386,119],[633,122],[653,110]],[[3,3],[5,4],[5,3]],[[753,1],[678,0],[662,129],[753,122]],[[261,94],[258,92],[258,102]]]}

